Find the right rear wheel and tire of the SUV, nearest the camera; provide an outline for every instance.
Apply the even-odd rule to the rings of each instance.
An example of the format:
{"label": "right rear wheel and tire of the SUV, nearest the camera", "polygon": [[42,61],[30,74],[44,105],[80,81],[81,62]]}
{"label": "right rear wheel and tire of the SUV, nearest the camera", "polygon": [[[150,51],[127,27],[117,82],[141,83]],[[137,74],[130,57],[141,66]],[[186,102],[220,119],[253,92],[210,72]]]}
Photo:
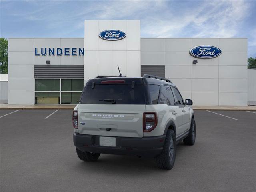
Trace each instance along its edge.
{"label": "right rear wheel and tire of the SUV, nearest the camera", "polygon": [[[170,148],[173,149],[173,154],[170,154]],[[176,136],[173,130],[168,130],[163,146],[163,151],[156,157],[156,164],[160,169],[170,170],[174,166],[176,157]]]}

